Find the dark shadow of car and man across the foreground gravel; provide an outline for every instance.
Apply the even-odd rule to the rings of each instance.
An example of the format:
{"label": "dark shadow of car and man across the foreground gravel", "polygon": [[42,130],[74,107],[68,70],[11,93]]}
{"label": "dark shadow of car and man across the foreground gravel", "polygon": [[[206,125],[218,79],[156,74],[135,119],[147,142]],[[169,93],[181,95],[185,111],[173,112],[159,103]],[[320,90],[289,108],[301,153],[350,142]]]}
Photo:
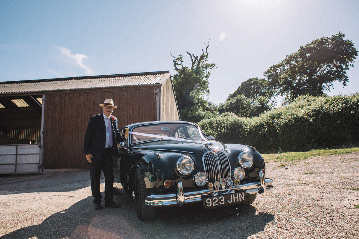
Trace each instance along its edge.
{"label": "dark shadow of car and man across the foreground gravel", "polygon": [[[137,219],[135,204],[126,196],[115,195],[121,208],[94,210],[87,197],[41,224],[18,229],[0,239],[117,239],[117,238],[247,238],[263,231],[274,215],[257,212],[253,206],[228,206],[204,210],[202,204],[157,210],[153,221]],[[104,205],[103,205],[104,206]]]}

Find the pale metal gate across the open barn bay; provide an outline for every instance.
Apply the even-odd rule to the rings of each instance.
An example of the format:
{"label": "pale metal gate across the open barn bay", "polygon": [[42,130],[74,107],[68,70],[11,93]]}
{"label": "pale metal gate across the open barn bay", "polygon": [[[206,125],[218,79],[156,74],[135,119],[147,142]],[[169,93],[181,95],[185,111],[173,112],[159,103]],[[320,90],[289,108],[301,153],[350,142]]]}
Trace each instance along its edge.
{"label": "pale metal gate across the open barn bay", "polygon": [[39,144],[0,145],[0,174],[40,173]]}

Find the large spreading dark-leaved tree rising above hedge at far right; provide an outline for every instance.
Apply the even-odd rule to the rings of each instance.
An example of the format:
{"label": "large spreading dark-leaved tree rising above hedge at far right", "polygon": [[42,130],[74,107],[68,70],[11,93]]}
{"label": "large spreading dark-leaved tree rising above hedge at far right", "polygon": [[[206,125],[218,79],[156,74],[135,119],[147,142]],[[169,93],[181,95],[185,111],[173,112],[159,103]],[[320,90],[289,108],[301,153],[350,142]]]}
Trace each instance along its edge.
{"label": "large spreading dark-leaved tree rising above hedge at far right", "polygon": [[332,37],[324,36],[286,56],[264,72],[269,86],[287,101],[300,95],[323,95],[333,88],[334,81],[346,86],[346,71],[353,67],[358,51],[354,43],[344,37],[341,32]]}

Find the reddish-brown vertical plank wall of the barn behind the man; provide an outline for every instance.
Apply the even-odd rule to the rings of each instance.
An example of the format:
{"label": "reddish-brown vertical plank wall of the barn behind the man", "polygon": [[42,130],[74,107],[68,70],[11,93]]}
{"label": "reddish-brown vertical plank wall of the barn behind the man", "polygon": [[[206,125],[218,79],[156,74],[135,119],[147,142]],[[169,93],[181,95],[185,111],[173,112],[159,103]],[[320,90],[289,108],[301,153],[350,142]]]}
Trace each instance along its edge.
{"label": "reddish-brown vertical plank wall of the barn behind the man", "polygon": [[131,123],[156,120],[154,92],[151,88],[45,95],[43,167],[87,168],[84,135],[90,117],[102,113],[99,104],[107,98],[113,99],[118,108],[112,115],[122,128]]}

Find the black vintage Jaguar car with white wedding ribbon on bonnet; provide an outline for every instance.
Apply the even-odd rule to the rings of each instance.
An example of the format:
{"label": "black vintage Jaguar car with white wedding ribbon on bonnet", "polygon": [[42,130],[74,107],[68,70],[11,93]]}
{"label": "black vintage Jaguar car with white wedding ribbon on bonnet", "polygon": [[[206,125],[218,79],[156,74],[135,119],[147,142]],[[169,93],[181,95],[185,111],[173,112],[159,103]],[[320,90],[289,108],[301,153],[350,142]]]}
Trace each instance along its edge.
{"label": "black vintage Jaguar car with white wedding ribbon on bonnet", "polygon": [[223,144],[185,121],[153,121],[123,127],[117,165],[137,217],[151,220],[156,207],[202,202],[205,209],[250,205],[273,187],[258,151]]}

